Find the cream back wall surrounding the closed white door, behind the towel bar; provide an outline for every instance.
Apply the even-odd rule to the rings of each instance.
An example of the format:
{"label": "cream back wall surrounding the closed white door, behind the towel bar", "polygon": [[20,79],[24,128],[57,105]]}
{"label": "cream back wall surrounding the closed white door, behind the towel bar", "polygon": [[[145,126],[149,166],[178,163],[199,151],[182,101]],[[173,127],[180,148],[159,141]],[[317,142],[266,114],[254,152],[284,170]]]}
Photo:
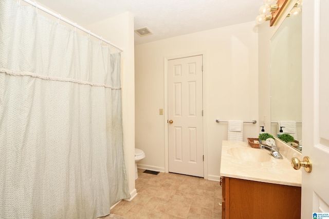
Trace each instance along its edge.
{"label": "cream back wall surrounding the closed white door, behind the towel bar", "polygon": [[[146,157],[139,166],[165,170],[166,115],[164,59],[204,55],[204,120],[208,166],[219,180],[227,123],[258,120],[258,33],[254,22],[177,36],[135,46],[135,141]],[[164,109],[167,113],[167,109]],[[257,137],[259,123],[244,124],[244,141]]]}

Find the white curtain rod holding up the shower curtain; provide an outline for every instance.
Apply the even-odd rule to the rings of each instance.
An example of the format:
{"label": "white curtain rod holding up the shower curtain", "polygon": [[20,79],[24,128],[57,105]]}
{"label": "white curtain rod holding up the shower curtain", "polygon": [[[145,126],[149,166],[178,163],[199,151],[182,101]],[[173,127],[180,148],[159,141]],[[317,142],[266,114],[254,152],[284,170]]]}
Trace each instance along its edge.
{"label": "white curtain rod holding up the shower curtain", "polygon": [[[30,0],[22,0],[22,1],[24,1],[24,2],[26,2],[26,3],[28,3],[28,4],[32,5],[32,6],[34,6],[36,9],[40,9],[40,10],[42,10],[42,11],[44,11],[44,12],[46,12],[46,13],[48,13],[48,14],[50,14],[50,15],[56,17],[56,18],[58,18],[59,20],[65,22],[65,23],[67,23],[67,24],[69,24],[69,25],[71,25],[71,26],[73,26],[73,27],[75,27],[75,28],[78,28],[79,30],[82,30],[82,31],[88,33],[89,35],[94,36],[95,38],[100,39],[102,42],[107,43],[107,44],[109,44],[109,45],[111,45],[111,46],[117,48],[117,49],[120,50],[121,52],[123,51],[120,47],[118,47],[118,46],[112,44],[111,42],[106,41],[105,39],[103,39],[103,37],[100,37],[100,36],[96,35],[95,33],[90,32],[90,30],[86,30],[86,29],[84,29],[83,27],[77,25],[77,23],[73,23],[73,22],[69,21],[68,19],[66,19],[66,18],[64,18],[64,17],[61,17],[60,14],[56,14],[56,13],[54,13],[54,12],[52,12],[52,11],[50,11],[50,10],[48,10],[48,9],[46,9],[46,8],[44,8],[44,7],[42,7],[42,6],[40,6],[40,5],[38,5],[38,4],[36,4],[36,2],[32,2],[32,1],[30,1]],[[19,2],[20,2],[20,0],[19,0]]]}

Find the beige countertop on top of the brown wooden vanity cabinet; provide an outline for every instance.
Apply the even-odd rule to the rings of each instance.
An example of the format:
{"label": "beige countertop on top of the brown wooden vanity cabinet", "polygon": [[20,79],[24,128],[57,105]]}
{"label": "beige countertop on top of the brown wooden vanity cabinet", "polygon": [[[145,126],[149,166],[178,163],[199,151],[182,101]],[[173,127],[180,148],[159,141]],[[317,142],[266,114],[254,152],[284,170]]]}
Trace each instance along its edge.
{"label": "beige countertop on top of the brown wooden vanity cabinet", "polygon": [[[269,150],[252,148],[248,142],[223,141],[221,176],[300,187],[303,168],[295,170],[291,167],[290,161],[292,156],[301,159],[301,153],[292,148],[290,149],[289,146],[279,144],[277,145],[281,148],[280,153],[283,155],[283,160],[274,158]],[[240,147],[244,147],[244,149],[237,149]],[[238,150],[243,150],[240,153],[241,158],[234,153]],[[265,154],[263,155],[263,153]],[[254,157],[259,156],[261,162],[257,162],[257,158],[253,160],[253,155]]]}

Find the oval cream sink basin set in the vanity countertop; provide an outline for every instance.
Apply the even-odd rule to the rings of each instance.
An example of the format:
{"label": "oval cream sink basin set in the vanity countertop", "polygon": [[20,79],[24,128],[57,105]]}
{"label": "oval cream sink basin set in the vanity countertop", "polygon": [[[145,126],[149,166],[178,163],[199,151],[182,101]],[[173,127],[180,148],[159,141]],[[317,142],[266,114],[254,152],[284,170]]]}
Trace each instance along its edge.
{"label": "oval cream sink basin set in the vanity countertop", "polygon": [[257,148],[236,147],[230,148],[228,154],[233,158],[247,162],[267,162],[271,160],[271,155],[266,153],[265,150]]}

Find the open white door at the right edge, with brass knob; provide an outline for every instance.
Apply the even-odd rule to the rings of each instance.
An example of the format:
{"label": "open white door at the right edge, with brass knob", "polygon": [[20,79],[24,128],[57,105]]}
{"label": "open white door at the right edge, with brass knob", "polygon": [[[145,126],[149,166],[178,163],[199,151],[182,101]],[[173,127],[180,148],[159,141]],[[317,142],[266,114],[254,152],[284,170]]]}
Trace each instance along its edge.
{"label": "open white door at the right edge, with brass knob", "polygon": [[[303,1],[302,218],[329,213],[329,17],[328,0]],[[319,218],[319,217],[318,217]],[[327,217],[326,217],[327,218]]]}

